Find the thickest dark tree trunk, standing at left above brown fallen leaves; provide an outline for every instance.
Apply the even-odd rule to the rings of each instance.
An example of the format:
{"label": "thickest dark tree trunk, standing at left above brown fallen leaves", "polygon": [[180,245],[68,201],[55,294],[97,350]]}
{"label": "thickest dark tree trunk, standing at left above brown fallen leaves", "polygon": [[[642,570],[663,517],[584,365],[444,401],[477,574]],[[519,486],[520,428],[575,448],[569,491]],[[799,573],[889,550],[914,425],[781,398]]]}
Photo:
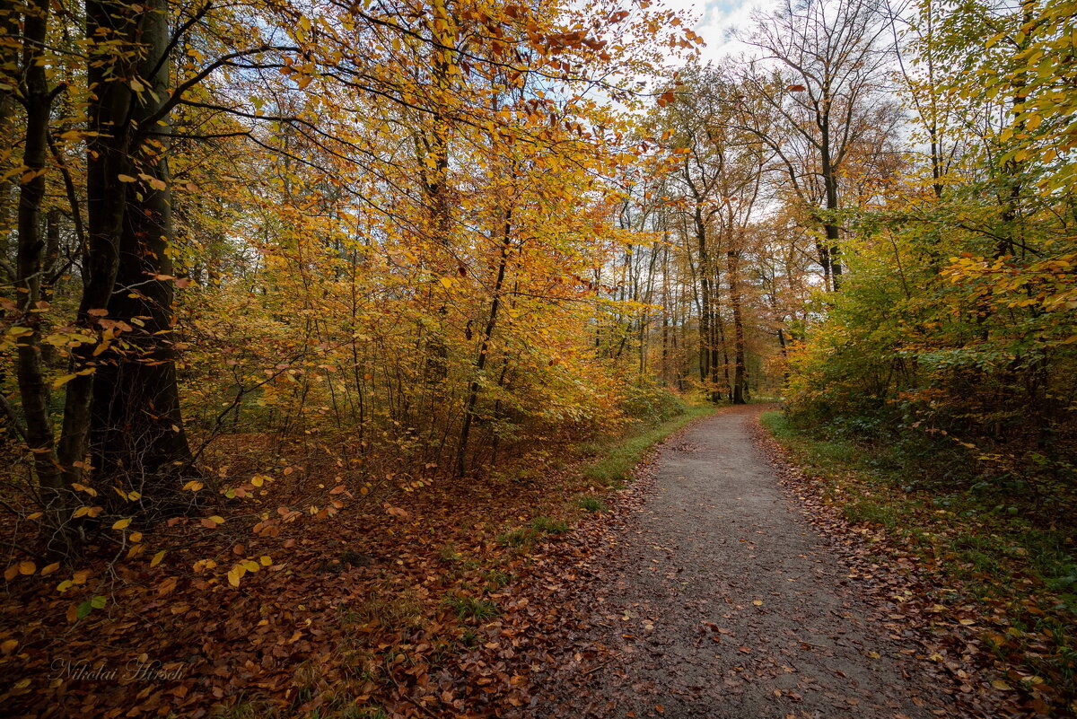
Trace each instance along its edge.
{"label": "thickest dark tree trunk, standing at left above brown fallen leaves", "polygon": [[[86,408],[89,451],[99,483],[120,483],[168,503],[179,490],[178,474],[192,462],[180,415],[173,270],[167,252],[172,212],[162,149],[170,127],[165,118],[154,122],[170,91],[168,5],[167,0],[141,6],[92,0],[87,17],[90,29],[122,18],[143,48],[129,68],[131,76],[149,86],[136,93],[131,77],[99,76],[92,107],[93,123],[108,137],[87,161],[90,278],[82,311],[89,322],[100,314],[92,310],[107,312],[106,322],[98,322],[102,344]],[[92,64],[92,72],[101,70]],[[117,170],[128,168],[124,174],[138,175],[138,182],[117,177]],[[127,347],[117,348],[112,338]]]}

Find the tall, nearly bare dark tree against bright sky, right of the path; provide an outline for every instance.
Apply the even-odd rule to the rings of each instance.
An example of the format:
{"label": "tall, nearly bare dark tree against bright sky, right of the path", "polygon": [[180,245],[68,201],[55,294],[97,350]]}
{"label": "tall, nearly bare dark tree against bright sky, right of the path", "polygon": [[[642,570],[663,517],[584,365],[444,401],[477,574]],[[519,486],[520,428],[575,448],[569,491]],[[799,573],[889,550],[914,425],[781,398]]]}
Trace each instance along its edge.
{"label": "tall, nearly bare dark tree against bright sky, right of the path", "polygon": [[789,186],[822,229],[816,243],[827,286],[841,283],[842,172],[869,133],[893,131],[885,94],[887,25],[875,0],[785,0],[756,18],[758,47],[743,73],[742,124],[780,160]]}

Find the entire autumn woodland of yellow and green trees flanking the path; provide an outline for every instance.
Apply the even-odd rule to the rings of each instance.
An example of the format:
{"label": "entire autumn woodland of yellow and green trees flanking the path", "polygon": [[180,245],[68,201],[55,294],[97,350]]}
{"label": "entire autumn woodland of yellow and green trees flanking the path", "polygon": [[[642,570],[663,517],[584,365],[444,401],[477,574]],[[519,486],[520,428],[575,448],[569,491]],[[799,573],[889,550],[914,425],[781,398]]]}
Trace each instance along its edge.
{"label": "entire autumn woodland of yellow and green trees flanking the path", "polygon": [[5,657],[697,401],[1072,592],[1077,3],[784,2],[705,64],[649,0],[5,0]]}

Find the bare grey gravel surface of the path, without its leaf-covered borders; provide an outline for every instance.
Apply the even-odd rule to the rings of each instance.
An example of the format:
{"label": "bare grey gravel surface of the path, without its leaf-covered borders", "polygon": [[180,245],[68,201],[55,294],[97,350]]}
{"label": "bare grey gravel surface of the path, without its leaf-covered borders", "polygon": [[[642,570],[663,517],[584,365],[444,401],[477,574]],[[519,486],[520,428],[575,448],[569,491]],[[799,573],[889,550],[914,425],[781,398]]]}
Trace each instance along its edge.
{"label": "bare grey gravel surface of the path, without its leaf-covered borders", "polygon": [[581,609],[576,642],[616,659],[551,678],[541,716],[892,719],[942,706],[783,492],[753,441],[763,409],[721,411],[661,449],[653,493],[603,550],[605,579]]}

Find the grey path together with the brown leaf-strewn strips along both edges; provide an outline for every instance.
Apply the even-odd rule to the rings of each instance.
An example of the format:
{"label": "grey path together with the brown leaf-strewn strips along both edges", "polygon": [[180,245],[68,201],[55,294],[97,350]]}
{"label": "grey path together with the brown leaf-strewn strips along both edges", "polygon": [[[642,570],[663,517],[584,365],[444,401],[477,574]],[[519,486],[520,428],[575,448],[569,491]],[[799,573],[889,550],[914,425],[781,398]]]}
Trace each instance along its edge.
{"label": "grey path together with the brown leaf-strewn strips along both edges", "polygon": [[[545,579],[531,593],[550,597],[547,618],[532,614],[520,628],[520,612],[509,614],[491,634],[516,624],[541,637],[507,662],[530,669],[531,693],[514,711],[491,687],[495,713],[1066,716],[1022,697],[999,678],[1005,667],[969,649],[969,615],[941,631],[926,619],[937,591],[951,590],[929,586],[901,548],[883,556],[870,531],[811,496],[759,426],[763,409],[727,408],[691,424],[604,523],[540,560]],[[528,600],[524,589],[515,603]],[[487,646],[466,668],[505,659],[496,640]]]}

